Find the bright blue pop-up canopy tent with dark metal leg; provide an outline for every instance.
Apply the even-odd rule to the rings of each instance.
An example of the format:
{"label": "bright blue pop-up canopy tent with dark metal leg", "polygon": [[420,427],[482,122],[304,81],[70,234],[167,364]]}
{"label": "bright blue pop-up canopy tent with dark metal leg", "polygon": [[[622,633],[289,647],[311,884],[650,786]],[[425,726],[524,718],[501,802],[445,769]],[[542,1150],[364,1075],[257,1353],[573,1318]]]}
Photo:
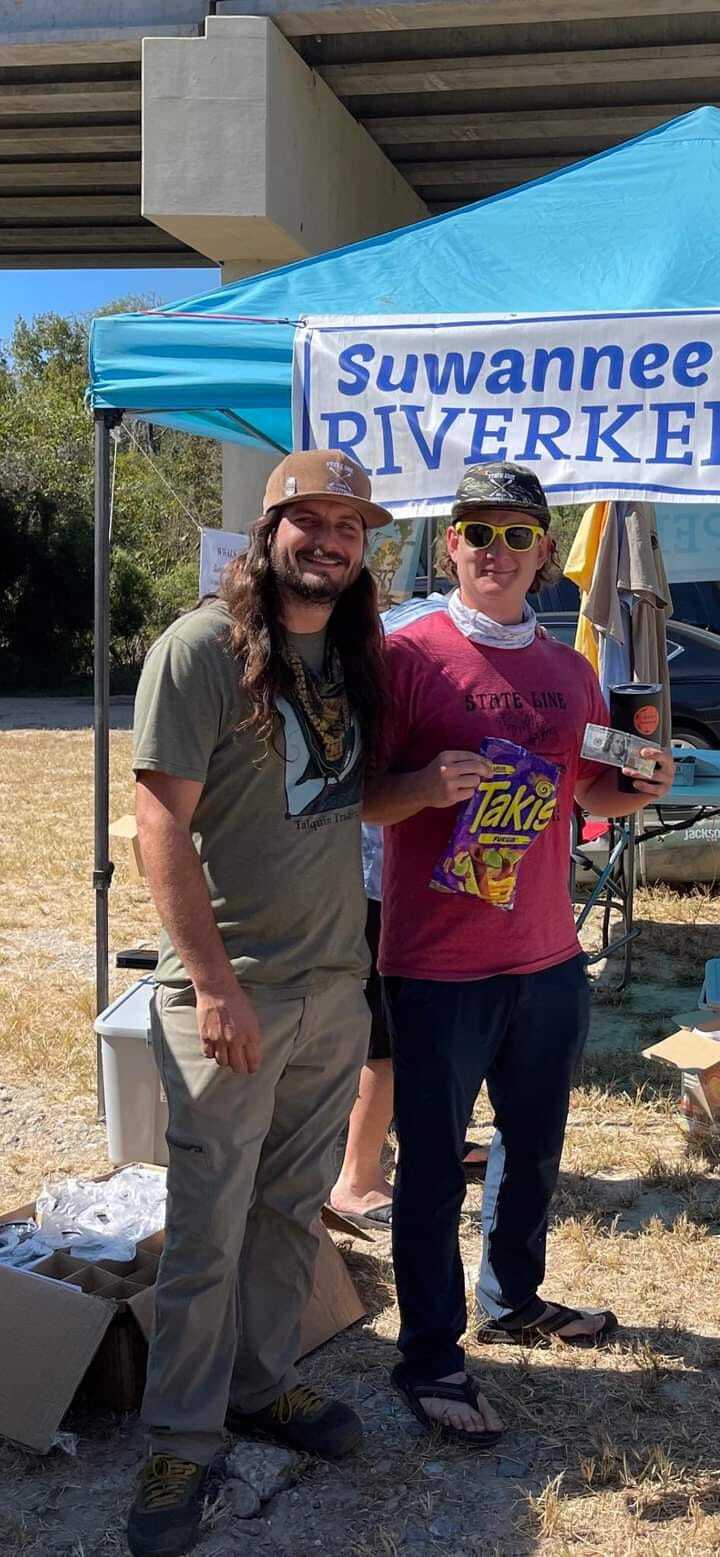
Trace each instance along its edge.
{"label": "bright blue pop-up canopy tent with dark metal leg", "polygon": [[108,1001],[109,430],[128,413],[291,447],[293,335],[307,315],[720,307],[720,111],[703,107],[463,210],[94,322],[97,448],[97,998]]}

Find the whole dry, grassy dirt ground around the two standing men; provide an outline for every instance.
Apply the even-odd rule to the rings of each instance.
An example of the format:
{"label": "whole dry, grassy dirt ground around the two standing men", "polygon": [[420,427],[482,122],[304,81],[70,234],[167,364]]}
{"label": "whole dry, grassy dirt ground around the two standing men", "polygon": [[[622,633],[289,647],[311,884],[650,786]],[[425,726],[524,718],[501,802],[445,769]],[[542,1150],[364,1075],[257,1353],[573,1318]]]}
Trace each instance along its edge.
{"label": "whole dry, grassy dirt ground around the two standing men", "polygon": [[[31,705],[30,705],[31,704]],[[131,808],[128,708],[114,710],[112,805]],[[89,705],[0,701],[0,1205],[45,1179],[106,1166],[95,1119],[92,736]],[[117,850],[111,944],[154,942],[143,887]],[[201,1557],[675,1557],[720,1551],[720,1171],[689,1157],[676,1082],[641,1048],[694,1007],[717,953],[711,892],[639,894],[630,996],[598,981],[574,1093],[545,1294],[612,1306],[600,1351],[468,1350],[506,1422],[497,1453],[425,1439],[391,1392],[397,1313],[388,1238],[341,1244],[368,1319],[309,1358],[304,1376],[357,1404],[363,1450],[329,1467],[242,1445]],[[128,982],[114,975],[114,990]],[[477,1133],[491,1129],[486,1099]],[[463,1258],[478,1261],[482,1188]],[[3,1557],[120,1557],[142,1457],[134,1417],[76,1408],[75,1454],[0,1445]],[[257,1492],[260,1487],[260,1492]]]}

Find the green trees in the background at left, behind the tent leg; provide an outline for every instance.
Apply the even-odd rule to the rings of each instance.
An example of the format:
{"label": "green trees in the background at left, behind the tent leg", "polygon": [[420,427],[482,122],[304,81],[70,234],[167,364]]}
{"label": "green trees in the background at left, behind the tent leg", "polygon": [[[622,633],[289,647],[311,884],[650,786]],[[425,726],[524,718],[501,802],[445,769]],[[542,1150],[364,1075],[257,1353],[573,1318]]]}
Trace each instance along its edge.
{"label": "green trees in the background at left, behind the tent leg", "polygon": [[[134,311],[126,297],[104,310]],[[0,350],[0,685],[51,687],[92,662],[89,318],[17,321]],[[111,663],[137,674],[196,596],[199,525],[221,514],[220,447],[126,420],[114,434]]]}

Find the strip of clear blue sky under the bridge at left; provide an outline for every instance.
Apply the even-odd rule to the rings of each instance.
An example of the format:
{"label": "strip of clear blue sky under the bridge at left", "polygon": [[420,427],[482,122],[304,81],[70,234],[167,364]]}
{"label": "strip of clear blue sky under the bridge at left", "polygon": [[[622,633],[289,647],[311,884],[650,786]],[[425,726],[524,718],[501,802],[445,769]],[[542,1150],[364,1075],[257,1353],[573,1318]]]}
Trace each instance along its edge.
{"label": "strip of clear blue sky under the bridge at left", "polygon": [[0,341],[8,343],[17,316],[36,313],[92,313],[115,297],[150,294],[159,302],[192,297],[220,286],[220,271],[0,271]]}

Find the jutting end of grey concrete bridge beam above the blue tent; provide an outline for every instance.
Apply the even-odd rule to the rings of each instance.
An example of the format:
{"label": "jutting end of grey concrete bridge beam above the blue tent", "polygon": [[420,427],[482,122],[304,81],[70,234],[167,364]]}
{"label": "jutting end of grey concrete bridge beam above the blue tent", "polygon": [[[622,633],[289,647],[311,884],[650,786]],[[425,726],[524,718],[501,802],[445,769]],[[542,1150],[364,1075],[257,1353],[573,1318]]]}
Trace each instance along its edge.
{"label": "jutting end of grey concrete bridge beam above the blue tent", "polygon": [[424,201],[263,17],[151,37],[142,212],[252,274],[422,220]]}

